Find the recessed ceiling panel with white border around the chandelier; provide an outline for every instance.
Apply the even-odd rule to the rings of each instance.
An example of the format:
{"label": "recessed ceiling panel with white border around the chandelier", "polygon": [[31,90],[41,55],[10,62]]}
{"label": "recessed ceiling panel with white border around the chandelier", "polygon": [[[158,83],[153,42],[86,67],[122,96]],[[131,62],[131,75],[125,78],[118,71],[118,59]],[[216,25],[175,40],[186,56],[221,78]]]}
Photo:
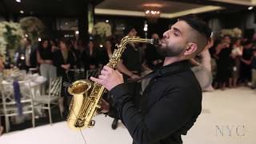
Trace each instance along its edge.
{"label": "recessed ceiling panel with white border around the chandelier", "polygon": [[[242,6],[255,6],[256,0],[210,0]],[[144,17],[148,5],[161,11],[161,18],[176,18],[186,14],[205,13],[213,10],[222,10],[222,6],[206,6],[178,1],[166,0],[104,0],[95,7],[95,14],[126,15]]]}

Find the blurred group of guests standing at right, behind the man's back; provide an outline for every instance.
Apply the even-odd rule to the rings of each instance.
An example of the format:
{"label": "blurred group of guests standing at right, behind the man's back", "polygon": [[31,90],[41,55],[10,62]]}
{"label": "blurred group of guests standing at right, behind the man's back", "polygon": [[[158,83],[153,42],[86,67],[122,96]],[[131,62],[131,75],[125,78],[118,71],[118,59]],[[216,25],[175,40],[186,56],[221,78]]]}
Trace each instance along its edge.
{"label": "blurred group of guests standing at right, behind the man's back", "polygon": [[228,86],[256,87],[256,47],[255,41],[246,38],[230,38],[225,35],[215,40],[209,49],[213,65],[214,88]]}

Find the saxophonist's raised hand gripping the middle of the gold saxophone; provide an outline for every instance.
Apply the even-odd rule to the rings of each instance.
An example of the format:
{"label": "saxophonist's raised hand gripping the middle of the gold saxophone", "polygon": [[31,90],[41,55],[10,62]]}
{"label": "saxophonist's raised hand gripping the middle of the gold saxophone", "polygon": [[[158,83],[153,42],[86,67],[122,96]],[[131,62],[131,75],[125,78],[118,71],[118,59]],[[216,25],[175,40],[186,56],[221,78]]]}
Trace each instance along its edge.
{"label": "saxophonist's raised hand gripping the middle of the gold saxophone", "polygon": [[123,83],[122,74],[118,70],[113,70],[110,66],[104,66],[98,78],[90,77],[90,79],[104,86],[106,90],[112,90],[114,86]]}

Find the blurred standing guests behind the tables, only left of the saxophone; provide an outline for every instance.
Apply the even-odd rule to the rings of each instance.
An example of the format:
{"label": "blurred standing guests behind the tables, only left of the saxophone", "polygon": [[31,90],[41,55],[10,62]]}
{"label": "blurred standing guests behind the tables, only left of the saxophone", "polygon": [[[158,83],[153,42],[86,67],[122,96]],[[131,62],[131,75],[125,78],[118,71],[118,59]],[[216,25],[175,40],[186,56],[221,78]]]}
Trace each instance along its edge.
{"label": "blurred standing guests behind the tables, only left of the saxophone", "polygon": [[[28,38],[15,54],[15,65],[21,70],[29,71],[37,68],[38,72],[47,79],[62,77],[62,82],[69,82],[67,70],[83,69],[95,70],[106,65],[114,50],[112,42],[107,40],[101,49],[95,46],[94,41],[82,42],[61,38],[57,41],[42,39],[38,46],[31,46]],[[73,79],[74,80],[74,79]],[[68,110],[65,87],[62,87],[60,108],[62,113]]]}

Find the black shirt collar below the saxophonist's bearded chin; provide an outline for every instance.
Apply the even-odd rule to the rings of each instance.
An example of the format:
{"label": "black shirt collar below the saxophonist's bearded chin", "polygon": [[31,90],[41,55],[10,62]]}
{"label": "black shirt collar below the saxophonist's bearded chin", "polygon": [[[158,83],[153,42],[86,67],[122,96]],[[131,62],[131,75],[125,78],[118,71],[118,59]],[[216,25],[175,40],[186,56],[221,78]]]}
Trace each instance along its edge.
{"label": "black shirt collar below the saxophonist's bearded chin", "polygon": [[165,77],[171,74],[177,74],[182,71],[190,70],[190,62],[188,60],[174,62],[167,66],[162,66],[156,71],[156,77]]}

